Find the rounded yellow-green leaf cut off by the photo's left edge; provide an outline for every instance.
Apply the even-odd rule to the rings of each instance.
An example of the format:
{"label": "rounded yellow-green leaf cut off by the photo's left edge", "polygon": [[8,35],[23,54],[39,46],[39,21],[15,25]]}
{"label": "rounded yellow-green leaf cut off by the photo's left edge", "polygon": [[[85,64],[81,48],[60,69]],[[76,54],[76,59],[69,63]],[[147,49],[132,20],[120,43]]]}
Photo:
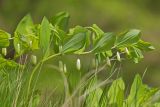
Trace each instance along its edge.
{"label": "rounded yellow-green leaf cut off by the photo's left edge", "polygon": [[0,30],[0,48],[5,48],[9,46],[9,38],[11,35],[3,30]]}

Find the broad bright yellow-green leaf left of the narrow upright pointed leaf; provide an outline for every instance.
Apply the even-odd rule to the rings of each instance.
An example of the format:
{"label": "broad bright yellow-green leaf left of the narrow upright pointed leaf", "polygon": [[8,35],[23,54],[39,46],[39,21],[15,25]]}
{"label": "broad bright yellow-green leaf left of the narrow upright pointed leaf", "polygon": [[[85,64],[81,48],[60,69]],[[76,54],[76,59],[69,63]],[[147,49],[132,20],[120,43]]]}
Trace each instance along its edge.
{"label": "broad bright yellow-green leaf left of the narrow upright pointed leaf", "polygon": [[[14,47],[17,54],[21,55],[28,50],[38,49],[38,37],[30,15],[26,15],[18,24],[14,33]],[[18,44],[20,45],[20,53]]]}

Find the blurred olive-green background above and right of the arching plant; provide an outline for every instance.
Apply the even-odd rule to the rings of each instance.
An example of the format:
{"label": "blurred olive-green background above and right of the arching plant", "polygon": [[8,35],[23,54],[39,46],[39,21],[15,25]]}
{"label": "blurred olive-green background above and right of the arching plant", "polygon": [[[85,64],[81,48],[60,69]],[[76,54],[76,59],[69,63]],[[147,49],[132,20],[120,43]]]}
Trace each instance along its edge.
{"label": "blurred olive-green background above and right of the arching plant", "polygon": [[60,11],[70,13],[70,27],[96,23],[106,32],[140,29],[156,50],[146,53],[140,64],[124,62],[122,75],[131,81],[147,68],[144,81],[160,86],[160,0],[0,0],[0,28],[13,33],[27,13],[39,23],[43,16],[51,18]]}

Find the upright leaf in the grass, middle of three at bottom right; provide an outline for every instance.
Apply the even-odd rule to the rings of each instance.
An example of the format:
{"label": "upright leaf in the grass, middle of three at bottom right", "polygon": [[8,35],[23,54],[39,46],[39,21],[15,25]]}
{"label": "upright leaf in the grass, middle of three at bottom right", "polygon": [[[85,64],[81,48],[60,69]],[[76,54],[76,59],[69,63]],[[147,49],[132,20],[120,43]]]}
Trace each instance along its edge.
{"label": "upright leaf in the grass, middle of three at bottom right", "polygon": [[108,91],[109,105],[111,107],[123,107],[125,84],[122,78],[113,81]]}

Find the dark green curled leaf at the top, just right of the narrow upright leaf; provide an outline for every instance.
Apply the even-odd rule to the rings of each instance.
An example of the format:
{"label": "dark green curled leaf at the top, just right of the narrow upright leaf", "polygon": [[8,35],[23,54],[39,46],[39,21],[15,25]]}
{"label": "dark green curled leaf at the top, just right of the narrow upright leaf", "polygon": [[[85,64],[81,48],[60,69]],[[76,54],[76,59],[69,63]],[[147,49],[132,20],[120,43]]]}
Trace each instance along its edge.
{"label": "dark green curled leaf at the top, just right of the narrow upright leaf", "polygon": [[66,31],[68,28],[69,14],[67,12],[60,12],[52,19],[52,24],[58,26],[60,29]]}

